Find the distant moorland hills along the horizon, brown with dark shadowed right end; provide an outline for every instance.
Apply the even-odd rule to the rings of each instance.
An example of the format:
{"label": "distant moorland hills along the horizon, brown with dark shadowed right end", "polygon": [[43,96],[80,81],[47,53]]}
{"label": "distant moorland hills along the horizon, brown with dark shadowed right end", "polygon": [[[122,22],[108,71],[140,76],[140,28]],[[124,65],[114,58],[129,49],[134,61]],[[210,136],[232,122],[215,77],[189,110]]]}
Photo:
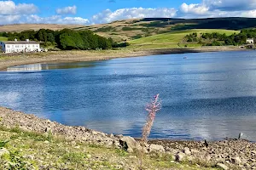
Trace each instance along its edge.
{"label": "distant moorland hills along the horizon, brown with dark shadowed right end", "polygon": [[173,31],[189,31],[191,29],[222,29],[241,30],[256,27],[255,18],[207,18],[207,19],[173,19],[173,18],[145,18],[131,20],[117,20],[108,24],[81,26],[81,25],[47,25],[23,24],[0,26],[1,31],[61,30],[90,30],[103,37],[112,37],[117,42],[131,41],[141,37],[149,37]]}

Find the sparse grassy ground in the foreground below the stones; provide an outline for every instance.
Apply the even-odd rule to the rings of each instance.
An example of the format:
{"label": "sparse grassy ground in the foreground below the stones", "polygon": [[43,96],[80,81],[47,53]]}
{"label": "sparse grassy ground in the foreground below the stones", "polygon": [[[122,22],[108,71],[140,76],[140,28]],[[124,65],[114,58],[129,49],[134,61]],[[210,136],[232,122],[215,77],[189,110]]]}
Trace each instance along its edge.
{"label": "sparse grassy ground in the foreground below the stones", "polygon": [[[138,154],[0,127],[0,169],[139,169]],[[198,163],[198,162],[197,162]],[[206,166],[204,164],[204,166]],[[143,156],[143,169],[207,170],[187,161],[177,163],[168,154]]]}

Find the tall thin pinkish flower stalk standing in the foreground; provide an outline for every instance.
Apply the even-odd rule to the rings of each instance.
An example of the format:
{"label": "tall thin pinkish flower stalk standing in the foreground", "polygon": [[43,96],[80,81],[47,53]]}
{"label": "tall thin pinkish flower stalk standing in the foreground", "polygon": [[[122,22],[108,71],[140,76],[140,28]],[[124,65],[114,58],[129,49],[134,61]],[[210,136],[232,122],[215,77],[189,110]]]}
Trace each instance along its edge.
{"label": "tall thin pinkish flower stalk standing in the foreground", "polygon": [[143,138],[141,139],[141,156],[140,156],[140,168],[143,169],[143,153],[144,153],[144,148],[146,144],[148,143],[148,136],[150,134],[151,128],[154,123],[154,118],[156,115],[157,111],[160,111],[161,109],[161,104],[160,104],[160,99],[159,99],[159,94],[156,94],[154,96],[154,99],[151,99],[151,102],[146,106],[146,111],[148,111],[148,117],[147,117],[147,122],[145,123],[143,127]]}

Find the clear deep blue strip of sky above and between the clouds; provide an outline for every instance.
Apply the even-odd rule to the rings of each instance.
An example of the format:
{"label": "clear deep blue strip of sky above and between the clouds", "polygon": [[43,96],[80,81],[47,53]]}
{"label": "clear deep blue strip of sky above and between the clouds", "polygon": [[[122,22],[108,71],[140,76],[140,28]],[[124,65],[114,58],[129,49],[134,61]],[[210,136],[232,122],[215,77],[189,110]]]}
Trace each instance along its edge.
{"label": "clear deep blue strip of sky above and between the clouds", "polygon": [[[83,18],[90,18],[94,14],[98,14],[107,8],[115,11],[119,8],[179,8],[184,3],[200,3],[199,0],[15,0],[17,3],[33,3],[39,9],[39,14],[42,16],[49,16],[55,14],[56,8],[65,8],[67,6],[75,5],[77,7],[76,16]],[[60,3],[61,2],[61,3]]]}

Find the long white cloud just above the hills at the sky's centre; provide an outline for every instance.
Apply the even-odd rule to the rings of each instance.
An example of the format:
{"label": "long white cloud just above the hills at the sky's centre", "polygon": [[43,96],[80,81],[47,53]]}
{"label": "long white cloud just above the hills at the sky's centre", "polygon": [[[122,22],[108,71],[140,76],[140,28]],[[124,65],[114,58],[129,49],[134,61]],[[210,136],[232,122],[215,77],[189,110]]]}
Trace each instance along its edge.
{"label": "long white cloud just above the hills at the sky's centre", "polygon": [[93,23],[108,23],[113,20],[124,20],[133,18],[170,18],[176,15],[175,8],[120,8],[115,11],[106,9],[102,13],[93,15]]}

